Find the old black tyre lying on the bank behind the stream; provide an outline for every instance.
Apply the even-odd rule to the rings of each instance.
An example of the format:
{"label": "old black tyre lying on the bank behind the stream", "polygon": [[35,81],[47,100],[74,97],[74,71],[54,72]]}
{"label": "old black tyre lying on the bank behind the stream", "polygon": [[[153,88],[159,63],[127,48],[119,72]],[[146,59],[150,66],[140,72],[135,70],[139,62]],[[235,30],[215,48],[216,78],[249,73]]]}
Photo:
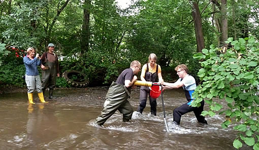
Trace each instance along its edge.
{"label": "old black tyre lying on the bank behind the stream", "polygon": [[82,88],[89,84],[89,79],[86,75],[77,70],[65,71],[62,77],[67,80],[67,82],[73,87]]}

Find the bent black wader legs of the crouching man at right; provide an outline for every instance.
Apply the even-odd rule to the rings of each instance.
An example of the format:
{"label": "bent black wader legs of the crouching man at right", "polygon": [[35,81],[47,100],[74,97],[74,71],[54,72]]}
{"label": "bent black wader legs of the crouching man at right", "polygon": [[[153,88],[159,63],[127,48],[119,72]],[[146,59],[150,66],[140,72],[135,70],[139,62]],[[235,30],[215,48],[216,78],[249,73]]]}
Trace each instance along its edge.
{"label": "bent black wader legs of the crouching man at right", "polygon": [[207,123],[207,121],[205,120],[205,117],[201,116],[203,111],[204,101],[201,102],[202,105],[200,107],[192,107],[187,103],[182,104],[180,107],[177,107],[174,109],[174,114],[173,114],[174,122],[176,122],[177,124],[180,124],[181,116],[186,113],[189,113],[190,111],[193,111],[199,123],[205,123],[205,122]]}

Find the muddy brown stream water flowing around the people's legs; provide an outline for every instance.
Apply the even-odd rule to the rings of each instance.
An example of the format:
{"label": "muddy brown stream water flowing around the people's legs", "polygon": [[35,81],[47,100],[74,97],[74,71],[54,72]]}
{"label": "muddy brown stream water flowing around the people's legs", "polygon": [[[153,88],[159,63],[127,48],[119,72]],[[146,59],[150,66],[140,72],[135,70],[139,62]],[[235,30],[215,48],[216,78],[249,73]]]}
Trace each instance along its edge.
{"label": "muddy brown stream water flowing around the people's legs", "polygon": [[49,101],[45,104],[35,93],[33,105],[28,104],[26,91],[0,94],[1,149],[235,149],[236,132],[221,128],[224,116],[207,117],[209,125],[202,126],[188,113],[182,116],[181,126],[173,128],[173,109],[186,101],[181,89],[163,92],[169,132],[161,96],[156,117],[149,113],[149,101],[138,116],[139,88],[130,98],[135,110],[131,122],[123,123],[117,111],[100,128],[95,118],[103,109],[107,91],[108,87],[56,89],[56,98],[45,98]]}

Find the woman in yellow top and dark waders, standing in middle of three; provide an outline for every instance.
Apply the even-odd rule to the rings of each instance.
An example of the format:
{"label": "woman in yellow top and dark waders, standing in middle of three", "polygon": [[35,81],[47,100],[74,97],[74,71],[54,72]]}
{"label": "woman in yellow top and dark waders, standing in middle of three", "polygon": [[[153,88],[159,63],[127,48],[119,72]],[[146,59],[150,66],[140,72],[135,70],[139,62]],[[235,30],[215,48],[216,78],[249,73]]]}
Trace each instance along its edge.
{"label": "woman in yellow top and dark waders, standing in middle of three", "polygon": [[[157,57],[154,53],[151,53],[148,57],[149,62],[144,64],[141,71],[140,79],[141,81],[149,81],[149,82],[158,82],[158,84],[163,84],[163,78],[161,74],[161,67],[160,65],[156,64]],[[160,88],[160,86],[153,86]],[[139,106],[138,112],[142,114],[144,108],[146,107],[147,103],[147,95],[149,95],[149,103],[150,103],[150,111],[151,115],[156,116],[156,98],[150,96],[150,89],[146,86],[140,87],[140,99],[139,99]]]}

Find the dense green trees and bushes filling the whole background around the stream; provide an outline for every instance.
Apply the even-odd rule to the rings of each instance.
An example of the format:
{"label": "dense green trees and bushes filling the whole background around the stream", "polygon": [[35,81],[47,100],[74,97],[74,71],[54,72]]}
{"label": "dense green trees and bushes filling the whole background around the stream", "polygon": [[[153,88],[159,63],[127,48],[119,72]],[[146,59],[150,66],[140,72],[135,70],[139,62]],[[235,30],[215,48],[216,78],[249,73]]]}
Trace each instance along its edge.
{"label": "dense green trees and bushes filling the whole background around the stream", "polygon": [[[80,70],[89,86],[109,84],[131,61],[144,64],[155,53],[165,81],[176,80],[181,63],[200,79],[196,102],[205,98],[211,109],[204,115],[240,124],[245,134],[235,148],[241,139],[259,149],[258,12],[255,0],[139,0],[127,9],[115,0],[0,1],[0,87],[25,87],[22,57],[31,46],[42,54],[54,43],[61,73]],[[57,78],[57,86],[70,85]]]}

